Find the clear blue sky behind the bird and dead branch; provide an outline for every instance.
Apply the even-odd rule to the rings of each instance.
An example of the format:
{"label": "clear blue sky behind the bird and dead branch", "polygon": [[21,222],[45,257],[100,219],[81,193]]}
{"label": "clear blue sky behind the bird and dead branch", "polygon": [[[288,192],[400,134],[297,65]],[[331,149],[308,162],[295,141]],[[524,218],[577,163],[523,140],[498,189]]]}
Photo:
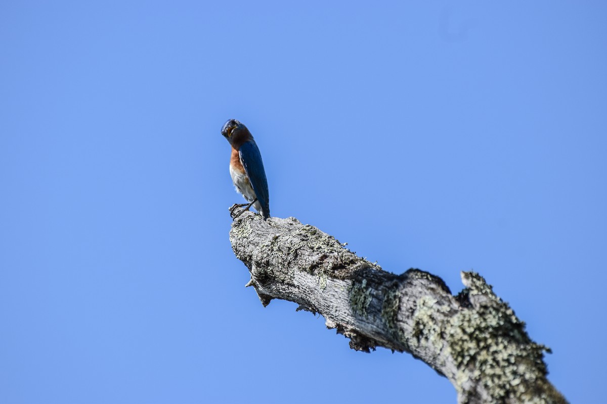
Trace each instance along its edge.
{"label": "clear blue sky behind the bird and dead branch", "polygon": [[0,402],[446,403],[244,288],[228,118],[273,216],[483,274],[605,402],[604,2],[0,3]]}

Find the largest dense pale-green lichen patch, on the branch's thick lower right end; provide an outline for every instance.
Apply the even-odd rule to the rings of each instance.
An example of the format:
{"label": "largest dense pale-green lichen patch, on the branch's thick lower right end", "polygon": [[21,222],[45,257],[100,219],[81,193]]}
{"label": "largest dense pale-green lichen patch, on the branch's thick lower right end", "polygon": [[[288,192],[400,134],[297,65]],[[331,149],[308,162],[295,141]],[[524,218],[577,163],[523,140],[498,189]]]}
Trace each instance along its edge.
{"label": "largest dense pale-green lichen patch, on the branch's thick lower right end", "polygon": [[465,273],[463,279],[470,300],[477,302],[453,316],[445,330],[450,356],[460,369],[456,386],[469,378],[482,380],[493,402],[534,402],[536,390],[528,387],[546,383],[543,351],[548,348],[527,336],[524,323],[483,277]]}

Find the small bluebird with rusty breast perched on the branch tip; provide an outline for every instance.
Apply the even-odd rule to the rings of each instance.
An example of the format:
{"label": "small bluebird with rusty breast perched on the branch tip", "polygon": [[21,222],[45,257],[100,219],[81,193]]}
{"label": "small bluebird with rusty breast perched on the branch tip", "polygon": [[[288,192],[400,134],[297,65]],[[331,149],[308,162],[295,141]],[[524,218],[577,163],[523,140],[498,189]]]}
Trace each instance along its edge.
{"label": "small bluebird with rusty breast perched on the branch tip", "polygon": [[[270,217],[270,196],[268,180],[263,170],[262,155],[253,139],[253,135],[236,119],[228,119],[222,127],[222,135],[232,146],[229,159],[229,174],[236,191],[262,215],[263,220]],[[239,206],[245,206],[242,204]],[[240,212],[242,213],[242,212]],[[240,213],[236,217],[240,216]],[[236,219],[234,217],[234,219]]]}

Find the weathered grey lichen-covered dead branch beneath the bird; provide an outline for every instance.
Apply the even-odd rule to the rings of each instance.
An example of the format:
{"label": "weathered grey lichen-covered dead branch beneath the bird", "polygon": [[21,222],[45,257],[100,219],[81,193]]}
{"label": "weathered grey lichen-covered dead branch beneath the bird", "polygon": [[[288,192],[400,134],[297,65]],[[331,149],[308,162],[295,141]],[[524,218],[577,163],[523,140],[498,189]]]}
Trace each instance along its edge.
{"label": "weathered grey lichen-covered dead branch beneath the bird", "polygon": [[384,271],[294,217],[244,211],[229,237],[264,306],[283,299],[320,313],[358,351],[410,353],[450,380],[459,403],[566,402],[546,379],[549,348],[477,273],[461,273],[466,287],[454,296],[437,276]]}

